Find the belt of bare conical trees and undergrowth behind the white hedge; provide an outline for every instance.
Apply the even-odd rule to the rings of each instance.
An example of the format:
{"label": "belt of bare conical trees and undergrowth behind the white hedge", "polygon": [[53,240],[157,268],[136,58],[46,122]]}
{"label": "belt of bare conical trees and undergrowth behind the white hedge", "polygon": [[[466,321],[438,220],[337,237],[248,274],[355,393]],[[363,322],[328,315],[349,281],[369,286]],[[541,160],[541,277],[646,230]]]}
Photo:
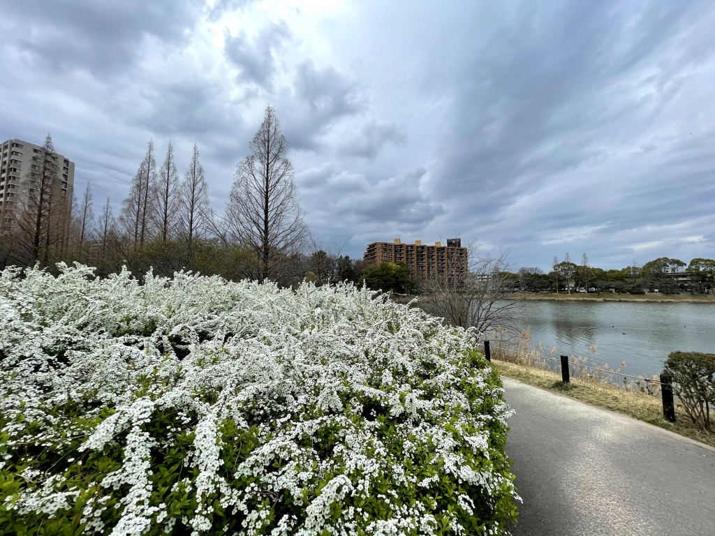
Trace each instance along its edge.
{"label": "belt of bare conical trees and undergrowth behind the white hedge", "polygon": [[209,203],[199,149],[184,160],[169,142],[157,155],[149,141],[119,214],[109,198],[94,206],[92,188],[78,198],[59,189],[59,165],[48,135],[23,177],[24,195],[6,210],[0,230],[0,269],[10,265],[53,271],[59,262],[97,267],[107,277],[125,265],[137,275],[150,268],[171,276],[179,270],[226,279],[270,279],[282,285],[358,282],[361,262],[317,248],[285,157],[288,143],[269,106],[250,153],[237,164],[225,211]]}

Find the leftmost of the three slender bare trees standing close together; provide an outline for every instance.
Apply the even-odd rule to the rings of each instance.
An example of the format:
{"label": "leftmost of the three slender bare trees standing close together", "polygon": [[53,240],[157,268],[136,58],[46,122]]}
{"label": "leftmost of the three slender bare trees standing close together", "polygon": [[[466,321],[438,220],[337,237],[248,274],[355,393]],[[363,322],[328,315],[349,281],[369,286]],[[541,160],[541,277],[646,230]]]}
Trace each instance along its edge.
{"label": "leftmost of the three slender bare trees standing close together", "polygon": [[137,173],[134,174],[129,195],[122,204],[122,213],[119,220],[122,222],[124,234],[127,235],[132,247],[143,247],[149,239],[151,219],[149,210],[152,207],[152,195],[157,177],[157,163],[154,160],[154,142],[149,140],[147,154],[139,164]]}

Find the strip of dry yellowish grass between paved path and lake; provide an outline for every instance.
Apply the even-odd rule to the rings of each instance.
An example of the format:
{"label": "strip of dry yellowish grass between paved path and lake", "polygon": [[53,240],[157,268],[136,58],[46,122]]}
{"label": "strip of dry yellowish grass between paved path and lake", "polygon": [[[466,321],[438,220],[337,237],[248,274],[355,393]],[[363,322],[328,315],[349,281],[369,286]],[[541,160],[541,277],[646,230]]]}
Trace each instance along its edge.
{"label": "strip of dry yellowish grass between paved path and lake", "polygon": [[617,411],[715,447],[715,434],[704,432],[693,425],[677,402],[676,422],[671,423],[664,420],[660,394],[652,395],[621,389],[612,384],[581,378],[571,378],[570,384],[563,384],[561,374],[556,372],[497,359],[492,359],[492,364],[502,376],[518,379],[520,382],[534,387],[559,392],[568,397],[603,407],[606,410]]}

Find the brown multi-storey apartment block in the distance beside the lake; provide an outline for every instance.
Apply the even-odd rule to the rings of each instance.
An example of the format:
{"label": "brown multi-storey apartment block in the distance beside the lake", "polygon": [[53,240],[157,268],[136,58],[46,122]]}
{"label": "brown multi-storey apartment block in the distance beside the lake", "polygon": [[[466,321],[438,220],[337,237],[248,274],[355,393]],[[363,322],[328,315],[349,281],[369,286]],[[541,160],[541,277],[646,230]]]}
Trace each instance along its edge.
{"label": "brown multi-storey apartment block in the distance beside the lake", "polygon": [[458,238],[450,238],[447,245],[435,242],[423,244],[415,240],[414,244],[403,244],[399,238],[393,242],[373,242],[363,255],[365,266],[381,262],[402,261],[410,267],[415,278],[427,279],[433,274],[465,274],[468,266],[467,248],[462,247]]}

